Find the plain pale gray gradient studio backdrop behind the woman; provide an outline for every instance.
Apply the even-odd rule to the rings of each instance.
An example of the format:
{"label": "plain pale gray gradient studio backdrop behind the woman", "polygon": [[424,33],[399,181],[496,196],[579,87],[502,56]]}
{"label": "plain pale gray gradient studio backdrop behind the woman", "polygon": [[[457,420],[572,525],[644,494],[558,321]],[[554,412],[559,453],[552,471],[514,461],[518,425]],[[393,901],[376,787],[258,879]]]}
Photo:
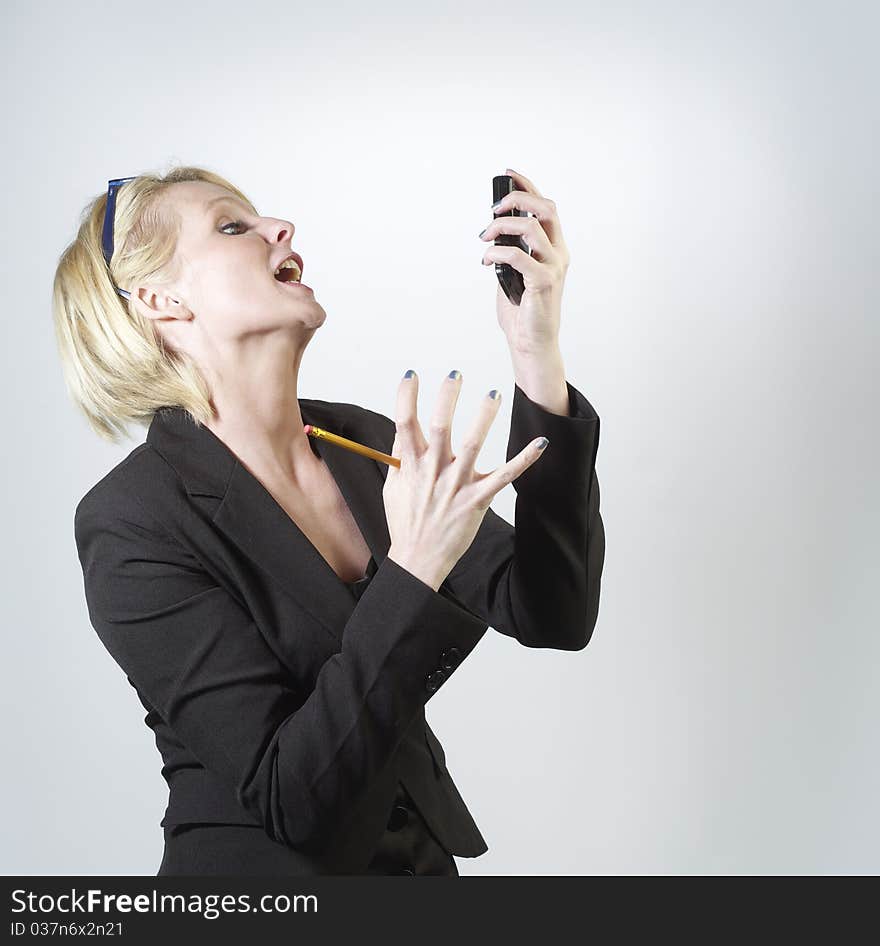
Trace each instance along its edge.
{"label": "plain pale gray gradient studio backdrop behind the woman", "polygon": [[489,844],[462,874],[875,872],[876,11],[7,4],[0,870],[162,855],[160,758],[73,539],[143,433],[114,448],[75,412],[50,292],[107,179],[181,161],[295,222],[328,313],[301,396],[393,415],[411,367],[426,422],[458,368],[454,442],[503,393],[484,470],[513,393],[490,179],[558,205],[602,601],[584,651],[490,630],[431,701]]}

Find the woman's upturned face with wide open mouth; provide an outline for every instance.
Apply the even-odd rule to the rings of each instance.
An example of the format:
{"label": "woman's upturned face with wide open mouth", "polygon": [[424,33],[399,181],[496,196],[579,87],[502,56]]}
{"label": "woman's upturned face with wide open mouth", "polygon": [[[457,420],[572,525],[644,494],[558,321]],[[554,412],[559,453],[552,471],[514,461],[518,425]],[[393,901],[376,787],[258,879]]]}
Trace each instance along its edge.
{"label": "woman's upturned face with wide open mouth", "polygon": [[273,276],[292,252],[289,220],[257,217],[231,191],[205,181],[173,184],[166,199],[182,223],[178,278],[165,287],[175,315],[158,322],[175,347],[204,356],[231,341],[324,322],[311,289]]}

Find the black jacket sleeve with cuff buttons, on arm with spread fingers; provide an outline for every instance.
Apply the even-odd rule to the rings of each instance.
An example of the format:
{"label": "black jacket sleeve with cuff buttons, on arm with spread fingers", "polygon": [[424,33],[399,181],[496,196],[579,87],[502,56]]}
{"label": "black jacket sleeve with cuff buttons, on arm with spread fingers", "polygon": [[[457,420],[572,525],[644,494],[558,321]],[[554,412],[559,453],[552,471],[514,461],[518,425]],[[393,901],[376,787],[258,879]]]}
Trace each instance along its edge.
{"label": "black jacket sleeve with cuff buttons, on arm with spread fingers", "polygon": [[486,631],[385,558],[304,692],[250,613],[121,484],[91,490],[74,521],[89,617],[110,655],[269,837],[304,851],[324,848],[389,761],[448,678],[441,664],[460,663]]}

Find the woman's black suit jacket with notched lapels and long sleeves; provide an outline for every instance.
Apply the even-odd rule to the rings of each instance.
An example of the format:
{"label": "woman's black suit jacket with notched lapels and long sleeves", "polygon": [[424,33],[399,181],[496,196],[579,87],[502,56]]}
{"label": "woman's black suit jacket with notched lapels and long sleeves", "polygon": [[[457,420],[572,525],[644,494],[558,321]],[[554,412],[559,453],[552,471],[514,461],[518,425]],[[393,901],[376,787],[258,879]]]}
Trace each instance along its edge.
{"label": "woman's black suit jacket with notched lapels and long sleeves", "polygon": [[[180,408],[157,412],[80,500],[75,537],[90,620],[162,755],[163,826],[259,825],[304,873],[360,873],[399,779],[450,853],[488,849],[425,704],[489,626],[526,647],[590,639],[599,418],[568,393],[564,417],[514,385],[507,458],[541,434],[550,444],[513,482],[515,529],[489,509],[439,591],[387,557],[388,467],[309,438],[372,551],[358,599],[218,437]],[[383,414],[299,403],[305,423],[391,453]]]}

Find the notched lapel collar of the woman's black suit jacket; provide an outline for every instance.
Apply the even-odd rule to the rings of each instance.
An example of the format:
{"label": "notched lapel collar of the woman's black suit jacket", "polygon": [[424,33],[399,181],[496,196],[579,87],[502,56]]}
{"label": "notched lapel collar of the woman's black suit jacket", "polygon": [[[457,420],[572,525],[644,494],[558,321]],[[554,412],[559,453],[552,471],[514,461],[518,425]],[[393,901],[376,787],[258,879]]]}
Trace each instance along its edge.
{"label": "notched lapel collar of the woman's black suit jacket", "polygon": [[[303,423],[391,452],[377,441],[368,415],[352,405],[299,399]],[[218,500],[212,522],[263,571],[341,640],[356,603],[350,589],[312,545],[271,493],[207,427],[179,407],[157,411],[147,443],[176,470],[192,497]],[[373,560],[368,574],[388,554],[391,537],[382,488],[388,468],[343,447],[309,437],[345,497]]]}

